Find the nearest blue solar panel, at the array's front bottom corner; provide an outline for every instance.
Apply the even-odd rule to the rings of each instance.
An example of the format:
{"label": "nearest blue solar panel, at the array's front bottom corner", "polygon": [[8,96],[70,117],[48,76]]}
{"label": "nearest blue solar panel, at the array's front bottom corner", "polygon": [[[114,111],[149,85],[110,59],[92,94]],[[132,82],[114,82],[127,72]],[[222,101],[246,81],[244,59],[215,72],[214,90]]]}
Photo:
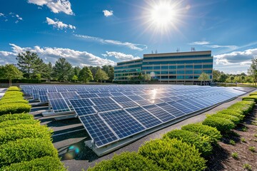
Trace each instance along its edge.
{"label": "nearest blue solar panel, at the array's front bottom corner", "polygon": [[80,120],[97,147],[119,140],[99,115],[84,115],[80,117]]}

